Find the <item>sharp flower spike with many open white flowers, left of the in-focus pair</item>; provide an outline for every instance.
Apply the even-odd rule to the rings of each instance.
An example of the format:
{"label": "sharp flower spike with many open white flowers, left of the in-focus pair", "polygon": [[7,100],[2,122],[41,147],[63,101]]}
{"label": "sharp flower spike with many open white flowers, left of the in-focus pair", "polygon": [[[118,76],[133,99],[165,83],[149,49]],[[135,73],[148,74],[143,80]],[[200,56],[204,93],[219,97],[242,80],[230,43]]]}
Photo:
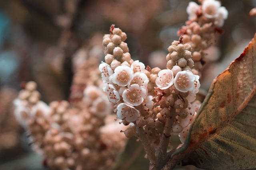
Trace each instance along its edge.
{"label": "sharp flower spike with many open white flowers, left of the in-focus pair", "polygon": [[154,103],[152,96],[148,96],[149,72],[143,63],[131,59],[127,44],[123,42],[125,39],[126,33],[112,25],[110,34],[103,38],[106,63],[102,62],[99,69],[106,83],[103,91],[115,104],[118,119],[128,125],[142,113],[149,116]]}

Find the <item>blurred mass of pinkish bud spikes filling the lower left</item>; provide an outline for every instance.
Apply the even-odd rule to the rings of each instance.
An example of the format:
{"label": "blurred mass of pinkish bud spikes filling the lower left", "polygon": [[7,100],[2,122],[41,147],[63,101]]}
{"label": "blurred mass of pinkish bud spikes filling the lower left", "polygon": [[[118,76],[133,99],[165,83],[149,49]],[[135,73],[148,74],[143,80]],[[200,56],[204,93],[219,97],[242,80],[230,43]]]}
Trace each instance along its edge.
{"label": "blurred mass of pinkish bud spikes filling the lower left", "polygon": [[[28,130],[32,146],[50,169],[106,170],[125,145],[125,136],[113,128],[120,126],[111,115],[113,106],[98,88],[100,72],[88,71],[98,67],[98,58],[84,58],[87,53],[82,52],[73,58],[70,102],[45,104],[35,82],[28,82],[14,101],[16,119]],[[82,58],[81,65],[77,61]]]}

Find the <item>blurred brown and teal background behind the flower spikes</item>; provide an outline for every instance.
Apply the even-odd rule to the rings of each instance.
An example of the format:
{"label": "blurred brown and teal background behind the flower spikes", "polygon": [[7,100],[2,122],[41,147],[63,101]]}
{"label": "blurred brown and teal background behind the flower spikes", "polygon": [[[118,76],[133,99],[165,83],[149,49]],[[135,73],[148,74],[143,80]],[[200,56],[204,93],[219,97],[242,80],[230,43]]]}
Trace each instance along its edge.
{"label": "blurred brown and teal background behind the flower spikes", "polygon": [[[178,40],[189,0],[0,0],[0,170],[43,170],[13,115],[12,100],[34,80],[42,100],[68,100],[72,56],[100,46],[111,24],[126,32],[132,59],[164,68],[167,48]],[[256,32],[248,16],[255,0],[221,0],[229,12],[224,33],[209,49],[201,86],[239,57]],[[103,48],[103,47],[102,47]],[[102,54],[103,49],[95,48]],[[100,62],[100,61],[99,61]]]}

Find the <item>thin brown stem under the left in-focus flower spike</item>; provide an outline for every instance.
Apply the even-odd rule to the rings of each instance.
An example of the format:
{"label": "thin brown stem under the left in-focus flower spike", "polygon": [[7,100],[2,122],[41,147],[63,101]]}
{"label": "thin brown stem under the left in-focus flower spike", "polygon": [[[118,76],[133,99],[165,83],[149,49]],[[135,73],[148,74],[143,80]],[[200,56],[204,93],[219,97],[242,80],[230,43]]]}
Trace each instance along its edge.
{"label": "thin brown stem under the left in-focus flower spike", "polygon": [[152,146],[150,145],[149,143],[149,139],[148,137],[146,136],[145,132],[144,132],[144,129],[143,127],[138,127],[138,125],[135,125],[136,126],[136,129],[137,129],[137,132],[138,132],[138,136],[140,138],[140,141],[144,147],[144,150],[148,156],[148,159],[150,161],[150,170],[155,170],[156,166],[155,166],[155,163],[156,163],[156,156],[155,156],[155,151],[154,149],[152,148]]}

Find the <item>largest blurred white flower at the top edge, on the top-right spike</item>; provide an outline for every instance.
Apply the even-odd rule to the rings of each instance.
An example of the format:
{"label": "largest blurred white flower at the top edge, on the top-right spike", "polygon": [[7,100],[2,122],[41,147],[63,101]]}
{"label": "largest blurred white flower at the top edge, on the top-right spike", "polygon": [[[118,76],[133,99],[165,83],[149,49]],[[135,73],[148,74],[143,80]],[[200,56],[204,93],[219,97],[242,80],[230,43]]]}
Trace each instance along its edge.
{"label": "largest blurred white flower at the top edge, on the top-right spike", "polygon": [[206,18],[216,18],[218,16],[218,9],[220,2],[216,0],[205,0],[202,4],[202,14]]}

